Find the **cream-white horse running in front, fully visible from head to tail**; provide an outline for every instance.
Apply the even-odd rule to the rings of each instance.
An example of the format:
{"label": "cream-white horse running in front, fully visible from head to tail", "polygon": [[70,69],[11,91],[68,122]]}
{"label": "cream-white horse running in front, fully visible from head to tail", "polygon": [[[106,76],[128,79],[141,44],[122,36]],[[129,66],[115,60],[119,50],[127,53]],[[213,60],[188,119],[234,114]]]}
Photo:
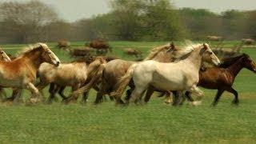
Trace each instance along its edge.
{"label": "cream-white horse running in front, fully visible from head to tail", "polygon": [[[157,90],[176,90],[178,95],[184,91],[190,91],[202,96],[202,91],[197,87],[199,81],[198,71],[202,62],[209,62],[218,66],[220,61],[210,50],[210,46],[205,43],[187,46],[186,49],[179,50],[177,54],[180,57],[178,62],[162,63],[150,60],[130,66],[129,70],[118,82],[118,89],[111,95],[116,99],[120,99],[132,78],[135,89],[129,102],[137,102],[150,86]],[[175,98],[174,101],[178,101],[178,98]]]}

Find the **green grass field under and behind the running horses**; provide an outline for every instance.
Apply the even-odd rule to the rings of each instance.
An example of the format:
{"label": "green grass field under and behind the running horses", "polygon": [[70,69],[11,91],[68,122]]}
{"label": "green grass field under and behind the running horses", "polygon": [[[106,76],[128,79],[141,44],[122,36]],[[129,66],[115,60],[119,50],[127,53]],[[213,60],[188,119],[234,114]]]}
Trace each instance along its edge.
{"label": "green grass field under and behind the running horses", "polygon": [[[119,58],[133,59],[122,54],[122,48],[138,48],[145,56],[150,48],[165,43],[110,42],[110,46]],[[238,42],[225,43],[232,46]],[[73,42],[72,46],[83,44]],[[10,54],[22,46],[26,45],[2,45]],[[72,60],[65,51],[53,51],[62,61]],[[242,52],[256,60],[256,49],[244,48]],[[1,103],[0,143],[255,143],[255,84],[256,77],[249,70],[238,74],[234,88],[239,93],[239,106],[232,106],[233,95],[224,93],[218,106],[212,107],[216,91],[204,89],[205,98],[198,107],[173,107],[164,104],[162,98],[152,98],[145,106],[122,107],[114,102],[94,106],[94,91],[84,106],[60,102],[51,106]],[[66,90],[66,94],[69,92]],[[25,100],[30,94],[25,90],[22,96]],[[47,88],[44,96],[48,96]]]}

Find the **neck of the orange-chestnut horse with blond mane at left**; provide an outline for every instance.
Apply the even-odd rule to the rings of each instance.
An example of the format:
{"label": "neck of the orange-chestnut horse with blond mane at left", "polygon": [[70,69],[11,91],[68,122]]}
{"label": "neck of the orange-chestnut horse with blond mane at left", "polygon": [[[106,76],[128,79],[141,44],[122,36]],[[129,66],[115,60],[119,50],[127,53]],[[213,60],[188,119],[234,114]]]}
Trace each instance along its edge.
{"label": "neck of the orange-chestnut horse with blond mane at left", "polygon": [[41,53],[39,51],[36,51],[36,52],[31,51],[30,53],[25,54],[22,58],[26,59],[24,62],[34,67],[35,70],[38,70],[39,66],[43,62],[40,55]]}

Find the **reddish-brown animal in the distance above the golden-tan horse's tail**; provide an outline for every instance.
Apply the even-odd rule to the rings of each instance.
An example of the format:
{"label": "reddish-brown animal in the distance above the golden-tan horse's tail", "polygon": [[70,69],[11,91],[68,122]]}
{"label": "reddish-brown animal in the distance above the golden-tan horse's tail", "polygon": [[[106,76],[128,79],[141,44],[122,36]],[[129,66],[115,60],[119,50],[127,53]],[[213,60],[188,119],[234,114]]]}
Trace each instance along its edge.
{"label": "reddish-brown animal in the distance above the golden-tan horse's tail", "polygon": [[86,46],[90,46],[91,48],[94,48],[96,50],[103,50],[105,53],[107,53],[107,50],[110,50],[110,52],[112,52],[109,43],[104,40],[94,40],[90,43],[86,43]]}

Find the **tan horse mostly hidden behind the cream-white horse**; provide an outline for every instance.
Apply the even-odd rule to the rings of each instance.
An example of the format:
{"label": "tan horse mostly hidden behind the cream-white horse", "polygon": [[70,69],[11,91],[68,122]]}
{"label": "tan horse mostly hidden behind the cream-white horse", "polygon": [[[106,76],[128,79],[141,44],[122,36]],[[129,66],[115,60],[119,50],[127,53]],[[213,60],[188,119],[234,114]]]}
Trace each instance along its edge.
{"label": "tan horse mostly hidden behind the cream-white horse", "polygon": [[[150,50],[150,54],[145,60],[151,59],[158,62],[172,62],[175,51],[176,51],[176,48],[173,43],[167,44],[165,46],[158,46],[153,50]],[[121,59],[116,59],[106,63],[106,66],[104,70],[102,70],[102,74],[100,77],[102,78],[102,85],[100,87],[100,90],[97,93],[97,98],[95,100],[95,103],[100,102],[104,94],[110,94],[113,90],[117,88],[118,79],[122,78],[122,76],[126,74],[126,71],[129,69],[129,67],[134,63],[136,62],[125,61]],[[93,84],[91,84],[90,86],[93,86]],[[90,90],[90,86],[88,86],[89,87],[88,90]],[[128,97],[131,91],[134,90],[134,84],[130,82],[129,86],[130,86],[130,90],[127,90]],[[117,99],[117,102],[124,103],[122,102],[121,98]]]}

